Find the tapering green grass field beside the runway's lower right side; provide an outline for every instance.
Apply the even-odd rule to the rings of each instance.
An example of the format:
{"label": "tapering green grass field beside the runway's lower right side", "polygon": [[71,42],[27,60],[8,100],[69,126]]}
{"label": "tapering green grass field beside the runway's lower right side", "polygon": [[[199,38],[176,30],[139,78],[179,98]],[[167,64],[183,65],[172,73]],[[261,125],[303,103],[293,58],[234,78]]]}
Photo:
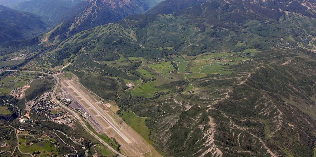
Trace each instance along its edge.
{"label": "tapering green grass field beside the runway's lower right side", "polygon": [[133,128],[139,135],[141,135],[148,143],[153,142],[149,140],[149,129],[145,125],[146,118],[136,116],[133,112],[122,111],[125,123]]}

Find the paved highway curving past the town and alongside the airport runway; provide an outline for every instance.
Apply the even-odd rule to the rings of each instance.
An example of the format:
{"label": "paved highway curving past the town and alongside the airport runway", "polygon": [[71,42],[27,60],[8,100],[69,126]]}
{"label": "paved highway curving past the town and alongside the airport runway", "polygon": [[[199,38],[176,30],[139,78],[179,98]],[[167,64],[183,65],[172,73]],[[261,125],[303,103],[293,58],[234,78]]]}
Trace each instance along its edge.
{"label": "paved highway curving past the town and alongside the airport runway", "polygon": [[[60,105],[61,107],[63,107],[65,110],[67,110],[69,113],[73,114],[77,120],[80,122],[80,124],[83,126],[83,128],[89,132],[93,137],[95,137],[98,141],[100,141],[102,144],[104,144],[108,149],[112,150],[112,152],[114,152],[115,154],[119,154],[119,156],[121,157],[128,157],[126,155],[120,154],[119,152],[117,152],[115,149],[113,149],[110,145],[108,145],[105,141],[103,141],[99,136],[95,135],[94,132],[92,132],[87,126],[86,124],[82,121],[82,119],[80,118],[80,116],[74,112],[72,109],[69,109],[67,106],[65,106],[64,104],[59,103],[59,101],[55,98],[55,93],[57,90],[57,87],[59,85],[59,78],[55,75],[52,74],[47,74],[45,72],[40,72],[40,71],[23,71],[23,70],[0,70],[0,71],[18,71],[18,72],[34,72],[34,73],[41,73],[41,74],[45,74],[45,75],[49,75],[49,76],[53,76],[57,81],[56,84],[54,86],[53,92],[52,92],[52,100],[54,102],[56,102],[58,105]],[[18,147],[19,148],[19,147]],[[20,148],[19,148],[20,149]],[[32,155],[33,156],[33,155]]]}

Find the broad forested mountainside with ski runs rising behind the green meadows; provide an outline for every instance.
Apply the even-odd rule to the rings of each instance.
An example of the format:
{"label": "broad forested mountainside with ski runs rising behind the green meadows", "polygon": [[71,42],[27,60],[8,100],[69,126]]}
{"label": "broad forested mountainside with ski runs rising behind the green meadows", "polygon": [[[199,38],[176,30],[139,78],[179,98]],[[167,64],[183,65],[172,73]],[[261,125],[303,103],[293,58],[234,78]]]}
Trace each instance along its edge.
{"label": "broad forested mountainside with ski runs rising behind the green meadows", "polygon": [[[84,47],[94,40],[86,49],[106,48],[128,56],[135,55],[142,47],[173,47],[161,53],[167,55],[180,51],[189,56],[207,51],[220,53],[225,49],[239,52],[272,46],[311,49],[315,47],[314,24],[314,18],[263,9],[249,1],[223,3],[214,0],[168,15],[131,15],[117,24],[82,31],[61,42],[57,48]],[[120,47],[105,42],[117,37],[122,42]],[[244,45],[236,46],[237,43]]]}

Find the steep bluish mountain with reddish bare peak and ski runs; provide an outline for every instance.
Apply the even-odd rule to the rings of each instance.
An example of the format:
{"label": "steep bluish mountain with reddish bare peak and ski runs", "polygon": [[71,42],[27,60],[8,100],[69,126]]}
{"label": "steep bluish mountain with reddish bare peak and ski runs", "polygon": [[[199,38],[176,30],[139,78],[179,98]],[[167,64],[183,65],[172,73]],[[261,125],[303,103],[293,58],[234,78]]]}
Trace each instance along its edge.
{"label": "steep bluish mountain with reddish bare peak and ski runs", "polygon": [[61,24],[42,36],[42,40],[56,43],[80,31],[142,14],[157,3],[157,0],[86,0],[61,14],[56,22]]}

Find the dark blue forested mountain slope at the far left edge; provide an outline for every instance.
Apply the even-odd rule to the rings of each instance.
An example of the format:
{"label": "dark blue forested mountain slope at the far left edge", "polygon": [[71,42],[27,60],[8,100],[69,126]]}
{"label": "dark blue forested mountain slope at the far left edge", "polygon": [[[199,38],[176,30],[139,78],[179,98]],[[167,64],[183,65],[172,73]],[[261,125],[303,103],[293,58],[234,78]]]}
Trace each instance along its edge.
{"label": "dark blue forested mountain slope at the far left edge", "polygon": [[39,17],[0,5],[0,43],[22,40],[47,29]]}

